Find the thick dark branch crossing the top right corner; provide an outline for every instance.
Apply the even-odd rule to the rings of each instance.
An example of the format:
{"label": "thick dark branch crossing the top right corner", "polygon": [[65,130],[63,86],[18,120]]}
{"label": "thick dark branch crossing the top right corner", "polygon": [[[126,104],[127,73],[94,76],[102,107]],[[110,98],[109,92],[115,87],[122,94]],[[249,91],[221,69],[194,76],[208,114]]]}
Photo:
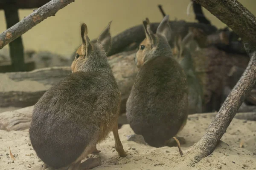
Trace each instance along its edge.
{"label": "thick dark branch crossing the top right corner", "polygon": [[194,0],[236,32],[256,43],[256,18],[237,0]]}

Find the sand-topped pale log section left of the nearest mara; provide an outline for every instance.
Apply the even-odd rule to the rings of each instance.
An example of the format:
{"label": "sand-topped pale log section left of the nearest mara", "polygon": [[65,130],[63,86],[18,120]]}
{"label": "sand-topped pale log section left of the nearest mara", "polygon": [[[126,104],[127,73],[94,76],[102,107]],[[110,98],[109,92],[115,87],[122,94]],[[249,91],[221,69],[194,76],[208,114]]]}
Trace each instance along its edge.
{"label": "sand-topped pale log section left of the nearest mara", "polygon": [[71,73],[70,67],[1,73],[0,107],[34,105],[50,86]]}

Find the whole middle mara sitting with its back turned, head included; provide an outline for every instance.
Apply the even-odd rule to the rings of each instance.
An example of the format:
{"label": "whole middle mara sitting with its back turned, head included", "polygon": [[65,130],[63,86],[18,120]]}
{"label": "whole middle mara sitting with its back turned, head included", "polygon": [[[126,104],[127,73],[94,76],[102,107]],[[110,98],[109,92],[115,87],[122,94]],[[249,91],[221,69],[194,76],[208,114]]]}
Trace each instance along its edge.
{"label": "whole middle mara sitting with its back turned, head included", "polygon": [[[127,101],[127,120],[134,133],[153,147],[162,147],[183,128],[188,116],[186,75],[172,58],[169,16],[153,34],[143,21],[146,38],[136,54],[139,72]],[[142,49],[142,45],[145,46]]]}

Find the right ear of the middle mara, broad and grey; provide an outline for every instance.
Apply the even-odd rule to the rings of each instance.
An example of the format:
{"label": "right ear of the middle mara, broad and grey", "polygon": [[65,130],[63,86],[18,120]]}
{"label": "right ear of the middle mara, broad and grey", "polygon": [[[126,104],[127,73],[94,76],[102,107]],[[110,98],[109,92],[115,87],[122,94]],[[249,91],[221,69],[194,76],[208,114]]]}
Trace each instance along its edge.
{"label": "right ear of the middle mara, broad and grey", "polygon": [[171,40],[172,29],[169,26],[168,21],[169,21],[169,15],[166,15],[161,21],[161,23],[159,24],[159,26],[157,27],[156,33],[166,37],[167,41],[169,42]]}

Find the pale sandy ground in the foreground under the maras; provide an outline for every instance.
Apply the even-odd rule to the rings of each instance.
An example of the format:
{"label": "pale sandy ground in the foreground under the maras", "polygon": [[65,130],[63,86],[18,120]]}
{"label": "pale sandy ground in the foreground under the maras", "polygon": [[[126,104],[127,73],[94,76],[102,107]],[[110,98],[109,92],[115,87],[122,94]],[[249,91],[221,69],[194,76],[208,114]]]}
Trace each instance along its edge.
{"label": "pale sandy ground in the foreground under the maras", "polygon": [[[212,121],[206,114],[189,117],[186,127],[179,136],[187,143],[182,146],[185,151],[198,141]],[[90,157],[100,157],[102,165],[93,170],[241,170],[256,169],[256,122],[234,119],[221,138],[215,151],[199,163],[191,164],[188,154],[180,157],[177,147],[154,148],[127,141],[127,135],[134,132],[128,124],[119,130],[119,135],[126,158],[119,158],[114,150],[113,134],[97,147],[101,152]],[[244,147],[239,148],[243,141]],[[10,158],[9,147],[15,156]],[[6,132],[0,130],[0,169],[1,170],[40,170],[43,162],[36,156],[30,141],[28,130]]]}

